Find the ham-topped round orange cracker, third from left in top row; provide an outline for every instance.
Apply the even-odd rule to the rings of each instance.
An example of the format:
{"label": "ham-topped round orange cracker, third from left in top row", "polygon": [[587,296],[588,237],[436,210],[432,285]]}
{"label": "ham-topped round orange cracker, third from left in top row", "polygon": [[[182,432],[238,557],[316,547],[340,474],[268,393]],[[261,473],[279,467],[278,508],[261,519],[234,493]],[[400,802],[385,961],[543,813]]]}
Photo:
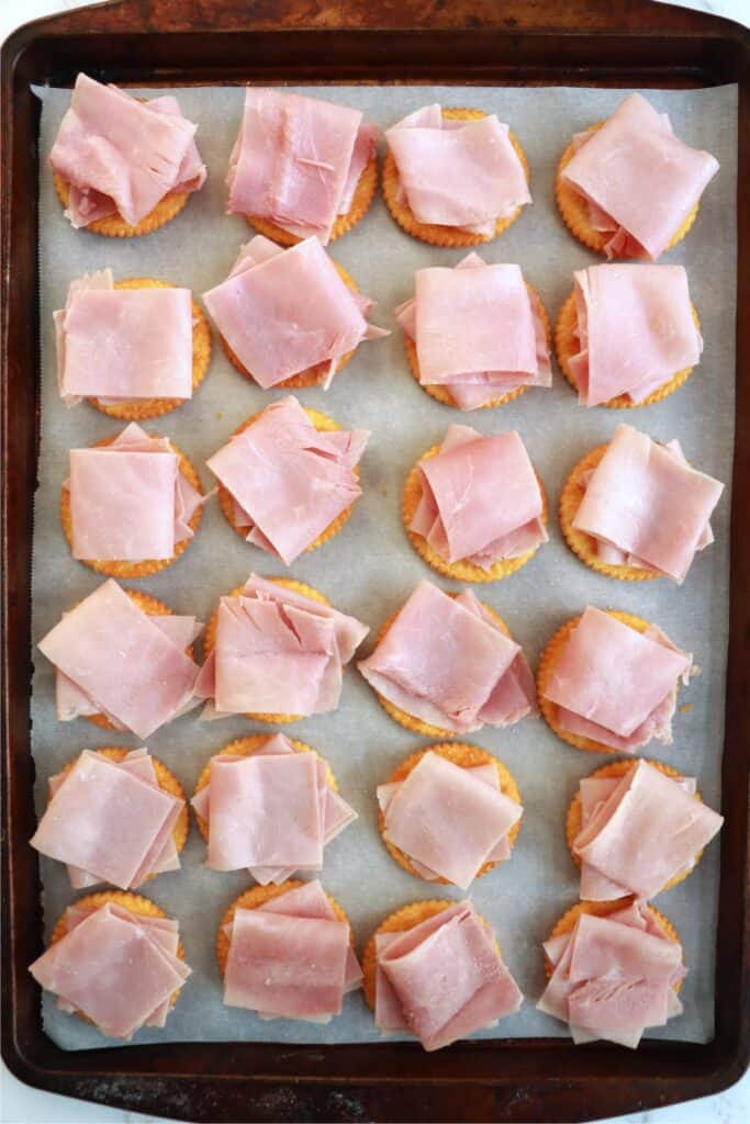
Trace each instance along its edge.
{"label": "ham-topped round orange cracker, third from left in top row", "polygon": [[532,201],[525,153],[495,114],[425,106],[387,129],[386,139],[388,210],[422,242],[489,242]]}

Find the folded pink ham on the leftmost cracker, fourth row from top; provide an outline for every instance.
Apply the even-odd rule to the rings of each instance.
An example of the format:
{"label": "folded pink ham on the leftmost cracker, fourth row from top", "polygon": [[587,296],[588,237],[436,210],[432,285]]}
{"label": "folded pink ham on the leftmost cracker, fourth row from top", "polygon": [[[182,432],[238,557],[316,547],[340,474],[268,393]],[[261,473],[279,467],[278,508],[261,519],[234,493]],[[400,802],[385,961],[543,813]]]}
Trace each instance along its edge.
{"label": "folded pink ham on the leftmost cracker, fourth row from top", "polygon": [[60,720],[103,713],[146,738],[195,705],[199,669],[184,649],[200,626],[195,617],[165,619],[145,614],[111,578],[65,613],[38,643],[55,665]]}

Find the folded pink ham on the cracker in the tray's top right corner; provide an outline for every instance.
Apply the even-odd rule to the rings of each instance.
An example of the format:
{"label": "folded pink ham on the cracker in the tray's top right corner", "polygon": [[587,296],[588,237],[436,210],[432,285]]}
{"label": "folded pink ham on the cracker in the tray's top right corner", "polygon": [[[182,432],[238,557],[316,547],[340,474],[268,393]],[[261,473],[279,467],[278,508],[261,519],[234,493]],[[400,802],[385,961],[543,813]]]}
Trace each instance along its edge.
{"label": "folded pink ham on the cracker in the tray's top right corner", "polygon": [[607,257],[656,261],[717,171],[710,153],[675,136],[667,114],[631,93],[578,138],[560,174],[588,201],[595,229],[612,234]]}

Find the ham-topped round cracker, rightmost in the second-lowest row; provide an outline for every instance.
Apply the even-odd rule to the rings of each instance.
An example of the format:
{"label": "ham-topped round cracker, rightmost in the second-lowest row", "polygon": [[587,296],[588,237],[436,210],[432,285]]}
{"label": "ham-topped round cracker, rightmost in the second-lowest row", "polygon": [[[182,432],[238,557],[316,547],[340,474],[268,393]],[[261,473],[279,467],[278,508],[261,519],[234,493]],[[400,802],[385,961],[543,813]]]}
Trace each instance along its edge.
{"label": "ham-topped round cracker, rightmost in the second-lowest row", "polygon": [[614,761],[584,777],[566,821],[581,900],[647,899],[681,882],[724,819],[695,777],[658,761]]}

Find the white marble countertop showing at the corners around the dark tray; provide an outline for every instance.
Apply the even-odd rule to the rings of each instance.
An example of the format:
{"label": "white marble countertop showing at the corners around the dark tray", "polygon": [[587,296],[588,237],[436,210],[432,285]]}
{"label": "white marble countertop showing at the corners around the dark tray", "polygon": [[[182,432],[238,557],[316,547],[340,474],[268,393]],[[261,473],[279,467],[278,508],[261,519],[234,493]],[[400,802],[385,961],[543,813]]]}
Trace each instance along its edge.
{"label": "white marble countertop showing at the corners around the dark tray", "polygon": [[[0,0],[0,42],[19,24],[87,0]],[[607,0],[600,0],[606,3]],[[657,0],[728,16],[750,26],[750,0]],[[618,1116],[618,1124],[744,1124],[750,1121],[750,1070],[725,1093],[702,1100]],[[0,1124],[162,1124],[156,1117],[127,1113],[33,1089],[2,1066],[0,1069]],[[608,1122],[602,1122],[608,1124]]]}

